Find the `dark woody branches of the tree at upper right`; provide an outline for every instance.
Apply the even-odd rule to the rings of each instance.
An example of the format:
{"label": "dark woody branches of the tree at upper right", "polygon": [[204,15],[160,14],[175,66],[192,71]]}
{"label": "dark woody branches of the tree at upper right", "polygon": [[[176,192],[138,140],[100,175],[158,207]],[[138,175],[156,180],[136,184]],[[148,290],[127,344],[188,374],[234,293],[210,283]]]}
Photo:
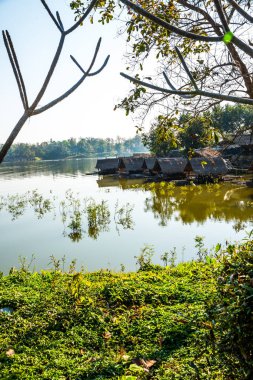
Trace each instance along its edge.
{"label": "dark woody branches of the tree at upper right", "polygon": [[[195,71],[195,76],[197,76],[197,80],[195,80],[196,79],[195,76],[192,75],[191,71],[189,70],[189,68],[188,68],[188,66],[184,60],[183,55],[180,53],[180,51],[177,47],[175,47],[176,53],[177,53],[177,55],[181,61],[181,64],[184,68],[185,73],[189,77],[190,82],[194,87],[194,90],[183,90],[182,88],[176,89],[175,86],[173,86],[173,84],[171,83],[171,80],[165,74],[165,72],[163,72],[163,76],[165,78],[166,83],[169,86],[169,89],[162,88],[160,86],[156,86],[156,85],[153,85],[151,83],[148,83],[148,82],[145,82],[145,81],[142,81],[142,80],[139,80],[137,78],[134,78],[134,77],[131,77],[129,75],[121,73],[121,75],[124,78],[131,80],[132,82],[134,82],[137,85],[145,86],[145,87],[148,87],[152,90],[158,91],[159,93],[164,93],[164,94],[168,94],[168,95],[178,95],[178,96],[185,98],[185,99],[190,99],[190,98],[197,96],[197,97],[207,97],[210,99],[217,99],[218,101],[225,100],[225,101],[231,101],[231,102],[236,102],[236,103],[240,103],[240,104],[253,105],[252,75],[250,74],[249,70],[247,69],[242,57],[239,56],[236,47],[239,48],[242,52],[246,53],[251,58],[253,58],[253,49],[249,45],[247,45],[245,42],[243,42],[241,39],[236,37],[230,31],[229,22],[230,22],[230,18],[232,16],[231,16],[231,13],[230,13],[230,18],[227,16],[225,9],[221,5],[221,0],[214,0],[213,1],[214,5],[215,5],[215,9],[216,9],[216,14],[218,15],[218,17],[220,19],[221,25],[217,24],[217,20],[213,19],[211,14],[207,13],[204,9],[200,8],[200,6],[199,6],[200,2],[194,2],[193,3],[193,2],[188,2],[187,0],[177,0],[177,2],[180,5],[182,5],[183,7],[188,8],[189,10],[196,12],[195,14],[197,17],[196,20],[194,19],[193,21],[191,21],[191,19],[189,19],[189,18],[188,19],[186,18],[187,22],[184,21],[184,17],[180,18],[180,20],[181,20],[181,24],[180,24],[181,26],[180,27],[174,27],[170,23],[168,23],[168,22],[162,20],[161,18],[151,14],[149,11],[141,8],[139,5],[133,3],[130,0],[120,0],[120,1],[122,3],[124,3],[125,5],[127,5],[129,8],[131,8],[136,13],[146,17],[148,20],[153,21],[154,23],[156,23],[159,26],[164,27],[165,29],[167,29],[171,32],[174,32],[178,36],[187,37],[193,41],[198,41],[198,40],[201,41],[202,40],[202,41],[207,41],[207,42],[220,42],[223,40],[232,57],[228,55],[228,62],[223,63],[221,61],[221,63],[219,65],[216,65],[216,66],[222,67],[222,66],[232,65],[235,68],[235,70],[236,70],[236,68],[239,69],[240,75],[238,75],[238,78],[240,78],[241,80],[244,81],[244,85],[247,89],[246,93],[249,95],[249,97],[243,98],[243,97],[240,97],[239,95],[238,96],[230,95],[231,93],[233,94],[234,91],[242,91],[242,90],[239,90],[240,86],[243,88],[242,83],[239,81],[236,81],[236,76],[232,75],[231,72],[224,74],[226,76],[228,76],[228,75],[233,76],[233,78],[231,80],[233,80],[235,86],[234,86],[233,90],[231,90],[231,92],[228,92],[228,90],[229,90],[228,86],[229,85],[227,84],[228,81],[226,79],[224,80],[224,83],[223,82],[219,83],[218,81],[216,81],[216,83],[214,82],[213,85],[211,85],[211,82],[209,81],[209,88],[211,88],[211,91],[202,90],[202,86],[199,88],[197,85],[197,80],[201,81],[201,71],[200,72]],[[234,9],[233,8],[234,1],[229,0],[229,3],[230,3],[232,10],[233,10]],[[180,9],[178,10],[178,12],[180,12]],[[182,12],[183,12],[183,10],[182,10]],[[199,15],[203,16],[203,19],[201,16],[199,17]],[[199,36],[195,33],[189,34],[188,31],[183,29],[183,26],[189,27],[191,22],[196,27],[196,26],[200,25],[201,22],[203,23],[204,20],[206,20],[207,26],[210,25],[210,28],[212,28],[212,32],[216,33],[217,37],[204,36],[205,39],[202,39],[203,36]],[[207,30],[210,30],[210,32],[211,32],[210,28],[207,29],[205,27],[205,32]],[[201,37],[201,39],[199,37]],[[230,57],[233,59],[233,62],[229,62],[229,60],[231,59]],[[203,77],[205,79],[206,75],[207,75],[205,72],[205,67],[203,67],[203,73],[205,73],[204,77]],[[218,86],[218,88],[220,87],[220,92],[212,91],[212,89],[217,88],[217,86]],[[224,86],[224,87],[222,88],[222,86]],[[223,94],[222,90],[223,91],[227,90],[228,93]]]}

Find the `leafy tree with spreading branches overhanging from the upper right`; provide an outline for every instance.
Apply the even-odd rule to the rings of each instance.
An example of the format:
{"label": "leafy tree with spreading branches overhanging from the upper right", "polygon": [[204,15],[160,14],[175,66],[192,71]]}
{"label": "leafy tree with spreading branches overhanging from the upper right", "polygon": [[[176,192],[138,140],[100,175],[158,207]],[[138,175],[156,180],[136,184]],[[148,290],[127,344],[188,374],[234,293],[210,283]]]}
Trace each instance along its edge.
{"label": "leafy tree with spreading branches overhanging from the upper right", "polygon": [[[132,43],[129,61],[136,73],[122,74],[135,87],[119,107],[127,113],[136,109],[147,112],[168,99],[173,100],[169,104],[172,113],[180,107],[199,112],[224,100],[253,105],[250,1],[120,0],[119,3],[127,6],[127,40]],[[77,15],[85,10],[84,1],[72,1],[71,5]],[[98,1],[100,21],[110,21],[115,6],[113,0]],[[157,85],[151,83],[152,78],[147,78],[147,70],[144,71],[145,64],[154,56],[158,64]]]}

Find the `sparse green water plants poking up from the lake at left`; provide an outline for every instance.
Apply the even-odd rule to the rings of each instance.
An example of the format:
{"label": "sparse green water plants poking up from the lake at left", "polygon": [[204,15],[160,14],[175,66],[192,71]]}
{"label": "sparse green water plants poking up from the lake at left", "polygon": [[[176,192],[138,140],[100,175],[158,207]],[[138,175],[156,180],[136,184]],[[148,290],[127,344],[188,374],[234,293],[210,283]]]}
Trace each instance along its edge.
{"label": "sparse green water plants poking up from the lake at left", "polygon": [[[8,212],[13,221],[24,215],[28,209],[33,210],[38,219],[51,211],[54,211],[54,218],[56,218],[56,197],[50,195],[44,198],[37,190],[34,190],[22,195],[0,196],[0,211]],[[106,201],[96,202],[93,198],[81,199],[71,190],[68,190],[64,200],[59,202],[59,216],[64,226],[63,235],[73,242],[80,241],[85,235],[96,240],[101,232],[110,230],[112,220],[118,233],[120,233],[120,228],[133,229],[132,211],[133,206],[129,203],[120,205],[117,201],[113,218],[111,218]]]}

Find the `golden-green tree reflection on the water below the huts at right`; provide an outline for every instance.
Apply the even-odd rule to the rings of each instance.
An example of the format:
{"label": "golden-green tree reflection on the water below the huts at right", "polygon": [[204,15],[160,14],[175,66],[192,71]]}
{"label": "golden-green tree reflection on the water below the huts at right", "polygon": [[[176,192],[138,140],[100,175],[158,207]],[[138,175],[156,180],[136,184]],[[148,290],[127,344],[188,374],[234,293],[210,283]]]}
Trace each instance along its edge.
{"label": "golden-green tree reflection on the water below the huts at right", "polygon": [[[175,215],[184,224],[203,223],[207,219],[235,221],[235,230],[253,219],[253,191],[231,185],[172,187],[168,184],[146,186],[150,197],[145,200],[145,212],[152,211],[162,226]],[[230,191],[229,199],[226,197]],[[239,222],[241,224],[239,224]]]}

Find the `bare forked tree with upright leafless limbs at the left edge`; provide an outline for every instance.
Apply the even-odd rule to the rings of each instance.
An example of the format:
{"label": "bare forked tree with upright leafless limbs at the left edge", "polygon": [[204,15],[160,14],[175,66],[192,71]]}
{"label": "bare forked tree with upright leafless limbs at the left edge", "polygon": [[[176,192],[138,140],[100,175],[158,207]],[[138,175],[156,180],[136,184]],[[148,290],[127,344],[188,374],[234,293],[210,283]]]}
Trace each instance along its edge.
{"label": "bare forked tree with upright leafless limbs at the left edge", "polygon": [[27,97],[27,93],[26,93],[25,83],[24,83],[24,80],[23,80],[23,77],[22,77],[22,73],[21,73],[21,70],[20,70],[20,65],[19,65],[19,62],[18,62],[18,59],[17,59],[17,55],[16,55],[16,52],[15,52],[13,43],[12,43],[12,39],[11,39],[10,34],[8,33],[8,31],[3,31],[2,32],[3,39],[4,39],[4,44],[5,44],[7,53],[8,53],[8,57],[9,57],[9,60],[10,60],[11,66],[12,66],[13,73],[15,75],[15,79],[16,79],[17,85],[18,85],[20,98],[21,98],[21,101],[22,101],[22,104],[23,104],[23,108],[24,108],[24,113],[21,116],[21,118],[19,119],[19,121],[17,122],[16,126],[12,130],[11,134],[9,135],[9,137],[7,138],[6,142],[1,147],[1,150],[0,150],[0,163],[3,161],[4,157],[6,156],[7,152],[9,151],[11,145],[13,144],[13,142],[14,142],[15,138],[17,137],[18,133],[20,132],[21,128],[23,127],[23,125],[25,124],[25,122],[31,116],[38,115],[38,114],[40,114],[40,113],[48,110],[49,108],[53,107],[54,105],[56,105],[57,103],[59,103],[60,101],[62,101],[63,99],[65,99],[67,96],[69,96],[70,94],[72,94],[72,92],[74,92],[87,77],[93,76],[93,75],[97,75],[98,73],[100,73],[103,70],[103,68],[106,66],[107,61],[109,59],[109,56],[108,56],[106,58],[106,60],[104,61],[104,64],[101,66],[100,69],[98,69],[95,72],[91,72],[91,70],[92,70],[92,68],[94,66],[94,63],[96,61],[96,58],[97,58],[97,54],[98,54],[98,51],[99,51],[99,48],[100,48],[100,44],[101,44],[101,39],[99,39],[99,41],[97,43],[97,46],[96,46],[93,58],[92,58],[91,63],[90,63],[90,65],[89,65],[89,67],[88,67],[87,70],[84,70],[82,68],[82,66],[76,61],[76,59],[74,57],[70,56],[71,59],[73,60],[73,62],[77,65],[77,67],[82,72],[82,77],[79,79],[78,82],[76,82],[63,95],[61,95],[58,98],[52,100],[47,105],[38,108],[38,104],[41,101],[41,99],[42,99],[42,97],[43,97],[43,95],[44,95],[44,93],[45,93],[45,91],[46,91],[46,89],[48,87],[48,84],[49,84],[49,82],[51,80],[51,77],[52,77],[52,75],[54,73],[54,70],[55,70],[56,65],[58,63],[58,60],[60,58],[60,55],[61,55],[61,52],[62,52],[62,48],[63,48],[64,42],[65,42],[66,36],[68,34],[72,33],[80,24],[82,24],[82,22],[87,18],[87,16],[90,14],[90,12],[92,11],[92,9],[94,8],[97,0],[92,0],[90,2],[90,5],[87,7],[87,9],[85,10],[85,12],[83,13],[82,17],[72,27],[70,27],[67,30],[64,29],[64,26],[63,26],[63,23],[62,23],[62,20],[60,18],[59,13],[56,12],[56,17],[55,17],[52,14],[52,12],[50,11],[50,9],[47,6],[46,2],[44,0],[41,0],[41,2],[43,4],[44,8],[46,9],[46,11],[48,12],[49,16],[51,17],[52,21],[54,22],[54,24],[58,28],[61,37],[60,37],[60,40],[59,40],[59,44],[58,44],[55,56],[54,56],[54,58],[52,60],[50,69],[48,71],[48,74],[47,74],[47,76],[46,76],[46,78],[44,80],[44,83],[43,83],[41,89],[38,91],[38,94],[35,97],[34,101],[31,103],[31,105],[29,105],[29,102],[28,102],[28,97]]}

